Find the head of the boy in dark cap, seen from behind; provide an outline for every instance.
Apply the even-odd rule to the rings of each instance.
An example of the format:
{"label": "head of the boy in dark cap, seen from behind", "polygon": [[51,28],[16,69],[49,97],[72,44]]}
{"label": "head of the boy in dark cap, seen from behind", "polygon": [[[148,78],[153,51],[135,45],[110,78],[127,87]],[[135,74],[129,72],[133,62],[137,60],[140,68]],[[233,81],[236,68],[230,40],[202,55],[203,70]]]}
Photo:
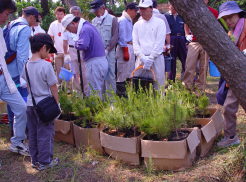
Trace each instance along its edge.
{"label": "head of the boy in dark cap, seen from behind", "polygon": [[48,57],[49,53],[56,53],[53,40],[48,34],[39,33],[30,38],[32,54],[39,54],[42,59]]}

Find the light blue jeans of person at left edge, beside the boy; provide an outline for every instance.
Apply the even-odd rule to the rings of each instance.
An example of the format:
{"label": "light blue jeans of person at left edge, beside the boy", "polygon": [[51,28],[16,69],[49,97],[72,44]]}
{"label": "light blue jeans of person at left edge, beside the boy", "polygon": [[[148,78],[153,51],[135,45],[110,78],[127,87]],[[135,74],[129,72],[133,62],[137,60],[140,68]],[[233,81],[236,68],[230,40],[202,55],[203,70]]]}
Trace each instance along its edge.
{"label": "light blue jeans of person at left edge, beside the boy", "polygon": [[18,145],[26,139],[26,103],[19,92],[10,93],[5,77],[0,75],[0,98],[5,101],[14,112],[14,136],[10,139],[11,143]]}

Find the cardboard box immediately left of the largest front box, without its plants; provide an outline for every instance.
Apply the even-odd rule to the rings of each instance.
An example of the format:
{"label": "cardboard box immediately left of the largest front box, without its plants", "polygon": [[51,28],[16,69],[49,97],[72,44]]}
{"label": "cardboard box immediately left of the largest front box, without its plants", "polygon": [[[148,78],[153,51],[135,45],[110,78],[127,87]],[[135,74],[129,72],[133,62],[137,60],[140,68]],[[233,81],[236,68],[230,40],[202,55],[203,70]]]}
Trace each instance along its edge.
{"label": "cardboard box immediately left of the largest front box, without its plants", "polygon": [[132,138],[111,136],[100,132],[101,145],[112,158],[131,165],[140,165],[140,139],[142,135]]}

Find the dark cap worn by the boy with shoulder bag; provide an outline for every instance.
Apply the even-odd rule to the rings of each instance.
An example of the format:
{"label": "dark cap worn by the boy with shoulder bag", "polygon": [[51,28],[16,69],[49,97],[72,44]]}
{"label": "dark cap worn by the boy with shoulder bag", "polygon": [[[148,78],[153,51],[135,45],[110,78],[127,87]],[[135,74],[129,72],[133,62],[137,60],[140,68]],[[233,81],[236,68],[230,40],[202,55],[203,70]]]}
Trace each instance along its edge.
{"label": "dark cap worn by the boy with shoulder bag", "polygon": [[49,45],[51,48],[50,48],[50,53],[57,53],[57,50],[56,48],[54,47],[54,42],[52,40],[52,38],[50,37],[49,34],[46,34],[46,33],[38,33],[38,34],[35,34],[33,37],[32,37],[33,41],[35,42],[41,42],[45,45]]}

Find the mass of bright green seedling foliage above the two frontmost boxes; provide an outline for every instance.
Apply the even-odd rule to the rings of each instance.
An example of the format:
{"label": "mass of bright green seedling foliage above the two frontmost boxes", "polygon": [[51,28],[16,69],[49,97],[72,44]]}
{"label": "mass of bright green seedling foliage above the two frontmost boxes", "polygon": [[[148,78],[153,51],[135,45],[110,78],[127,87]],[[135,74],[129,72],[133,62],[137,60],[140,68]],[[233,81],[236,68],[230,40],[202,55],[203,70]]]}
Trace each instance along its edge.
{"label": "mass of bright green seedling foliage above the two frontmost boxes", "polygon": [[193,98],[180,84],[169,88],[166,96],[163,89],[144,91],[140,88],[136,93],[127,86],[127,99],[114,95],[113,102],[104,107],[96,118],[110,129],[138,128],[147,135],[164,138],[194,114]]}

